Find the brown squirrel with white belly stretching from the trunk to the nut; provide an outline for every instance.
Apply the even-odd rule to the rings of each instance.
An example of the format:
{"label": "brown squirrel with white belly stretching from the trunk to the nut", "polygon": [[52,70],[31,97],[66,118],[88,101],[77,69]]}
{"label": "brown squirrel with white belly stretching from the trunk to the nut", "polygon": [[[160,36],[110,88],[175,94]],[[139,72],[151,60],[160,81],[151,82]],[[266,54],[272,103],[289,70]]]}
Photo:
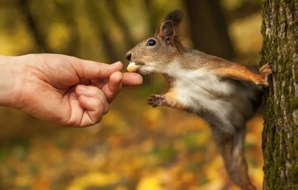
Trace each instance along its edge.
{"label": "brown squirrel with white belly stretching from the trunk to the nut", "polygon": [[210,126],[230,179],[241,189],[256,189],[248,177],[244,157],[245,122],[261,106],[262,91],[272,73],[270,63],[260,74],[245,66],[182,46],[178,26],[183,12],[175,9],[161,22],[152,37],[126,53],[136,72],[162,74],[168,85],[165,94],[147,100],[156,107],[195,113]]}

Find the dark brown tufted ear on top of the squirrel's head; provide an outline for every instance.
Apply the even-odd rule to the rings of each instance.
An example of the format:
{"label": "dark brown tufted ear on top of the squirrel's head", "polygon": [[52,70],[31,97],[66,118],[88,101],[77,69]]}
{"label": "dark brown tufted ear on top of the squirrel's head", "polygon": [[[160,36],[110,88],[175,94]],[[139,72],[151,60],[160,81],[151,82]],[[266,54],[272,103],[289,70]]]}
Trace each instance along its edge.
{"label": "dark brown tufted ear on top of the squirrel's head", "polygon": [[169,12],[160,24],[158,35],[165,40],[167,44],[171,44],[178,39],[177,27],[182,22],[183,12],[175,9]]}

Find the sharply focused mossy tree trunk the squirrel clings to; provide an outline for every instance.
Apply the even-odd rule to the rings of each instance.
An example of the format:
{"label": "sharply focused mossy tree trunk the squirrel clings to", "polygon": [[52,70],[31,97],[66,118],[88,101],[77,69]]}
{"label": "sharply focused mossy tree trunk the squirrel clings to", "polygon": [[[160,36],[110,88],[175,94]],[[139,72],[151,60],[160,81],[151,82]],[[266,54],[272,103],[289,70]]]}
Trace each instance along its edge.
{"label": "sharply focused mossy tree trunk the squirrel clings to", "polygon": [[261,0],[260,65],[275,71],[264,88],[264,189],[298,189],[298,0]]}

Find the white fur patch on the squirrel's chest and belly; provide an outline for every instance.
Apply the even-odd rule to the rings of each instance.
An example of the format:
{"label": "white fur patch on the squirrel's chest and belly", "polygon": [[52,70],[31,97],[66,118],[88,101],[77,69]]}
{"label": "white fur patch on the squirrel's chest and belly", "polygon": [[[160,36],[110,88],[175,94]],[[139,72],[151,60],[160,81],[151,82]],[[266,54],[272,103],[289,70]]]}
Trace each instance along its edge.
{"label": "white fur patch on the squirrel's chest and belly", "polygon": [[220,81],[218,76],[200,69],[175,71],[171,75],[176,79],[173,89],[180,103],[194,110],[207,108],[216,112],[221,118],[225,118],[228,114],[231,103],[212,98],[210,94],[214,92],[223,96],[231,95],[234,87],[228,81]]}

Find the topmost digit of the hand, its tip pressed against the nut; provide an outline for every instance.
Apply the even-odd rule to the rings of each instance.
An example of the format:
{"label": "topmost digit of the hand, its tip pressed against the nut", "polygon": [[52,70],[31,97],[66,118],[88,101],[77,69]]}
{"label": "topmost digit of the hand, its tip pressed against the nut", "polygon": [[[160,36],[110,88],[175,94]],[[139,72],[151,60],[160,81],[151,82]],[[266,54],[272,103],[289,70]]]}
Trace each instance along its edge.
{"label": "topmost digit of the hand, its tip pressed against the nut", "polygon": [[88,80],[108,78],[113,72],[120,71],[123,67],[120,61],[106,64],[91,60],[79,59],[72,62],[79,78]]}

